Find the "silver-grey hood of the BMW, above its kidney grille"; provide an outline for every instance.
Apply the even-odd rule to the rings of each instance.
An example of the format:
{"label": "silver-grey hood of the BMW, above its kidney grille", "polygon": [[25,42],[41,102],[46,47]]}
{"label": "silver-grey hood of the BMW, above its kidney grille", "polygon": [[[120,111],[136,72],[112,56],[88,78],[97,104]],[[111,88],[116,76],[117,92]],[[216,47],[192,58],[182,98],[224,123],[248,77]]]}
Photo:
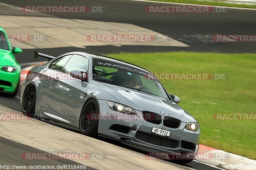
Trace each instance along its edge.
{"label": "silver-grey hood of the BMW, above its kidney grille", "polygon": [[[121,104],[132,107],[134,110],[154,112],[180,119],[182,122],[195,122],[192,115],[172,100],[116,85],[95,83],[99,88],[113,95]],[[160,114],[160,111],[164,114]]]}

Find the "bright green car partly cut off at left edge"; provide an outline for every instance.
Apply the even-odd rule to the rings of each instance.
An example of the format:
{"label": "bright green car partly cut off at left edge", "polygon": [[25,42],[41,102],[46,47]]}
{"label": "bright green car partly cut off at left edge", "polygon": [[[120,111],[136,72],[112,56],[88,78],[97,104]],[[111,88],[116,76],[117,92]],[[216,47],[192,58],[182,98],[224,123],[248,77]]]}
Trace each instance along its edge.
{"label": "bright green car partly cut off at left edge", "polygon": [[20,48],[11,46],[8,35],[0,27],[0,92],[7,97],[16,96],[19,90],[21,67],[13,53],[21,52]]}

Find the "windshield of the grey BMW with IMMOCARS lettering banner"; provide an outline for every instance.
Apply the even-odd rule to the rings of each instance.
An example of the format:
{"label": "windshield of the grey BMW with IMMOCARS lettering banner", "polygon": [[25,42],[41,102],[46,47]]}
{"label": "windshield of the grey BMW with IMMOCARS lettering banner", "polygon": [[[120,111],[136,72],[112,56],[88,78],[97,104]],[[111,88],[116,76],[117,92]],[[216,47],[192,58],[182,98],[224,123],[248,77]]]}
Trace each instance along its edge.
{"label": "windshield of the grey BMW with IMMOCARS lettering banner", "polygon": [[122,65],[104,60],[93,61],[93,79],[153,94],[169,100],[163,86],[156,77],[131,65]]}

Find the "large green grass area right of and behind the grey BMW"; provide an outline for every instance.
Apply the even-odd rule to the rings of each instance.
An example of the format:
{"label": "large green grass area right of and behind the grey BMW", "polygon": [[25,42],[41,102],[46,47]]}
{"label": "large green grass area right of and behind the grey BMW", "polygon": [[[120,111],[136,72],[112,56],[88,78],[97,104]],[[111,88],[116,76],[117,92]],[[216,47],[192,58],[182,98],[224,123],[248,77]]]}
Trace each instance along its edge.
{"label": "large green grass area right of and behind the grey BMW", "polygon": [[200,123],[201,144],[256,159],[256,120],[215,120],[215,113],[256,113],[255,54],[120,53],[152,73],[225,73],[225,80],[160,80]]}

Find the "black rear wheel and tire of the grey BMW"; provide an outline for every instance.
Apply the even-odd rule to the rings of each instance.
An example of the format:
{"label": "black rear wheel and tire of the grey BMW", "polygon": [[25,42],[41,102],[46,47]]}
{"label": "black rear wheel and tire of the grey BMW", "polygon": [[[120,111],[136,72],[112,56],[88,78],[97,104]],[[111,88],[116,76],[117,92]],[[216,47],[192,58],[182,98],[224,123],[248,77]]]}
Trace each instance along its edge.
{"label": "black rear wheel and tire of the grey BMW", "polygon": [[36,108],[36,87],[31,84],[25,89],[21,102],[21,111],[24,115],[34,118]]}

